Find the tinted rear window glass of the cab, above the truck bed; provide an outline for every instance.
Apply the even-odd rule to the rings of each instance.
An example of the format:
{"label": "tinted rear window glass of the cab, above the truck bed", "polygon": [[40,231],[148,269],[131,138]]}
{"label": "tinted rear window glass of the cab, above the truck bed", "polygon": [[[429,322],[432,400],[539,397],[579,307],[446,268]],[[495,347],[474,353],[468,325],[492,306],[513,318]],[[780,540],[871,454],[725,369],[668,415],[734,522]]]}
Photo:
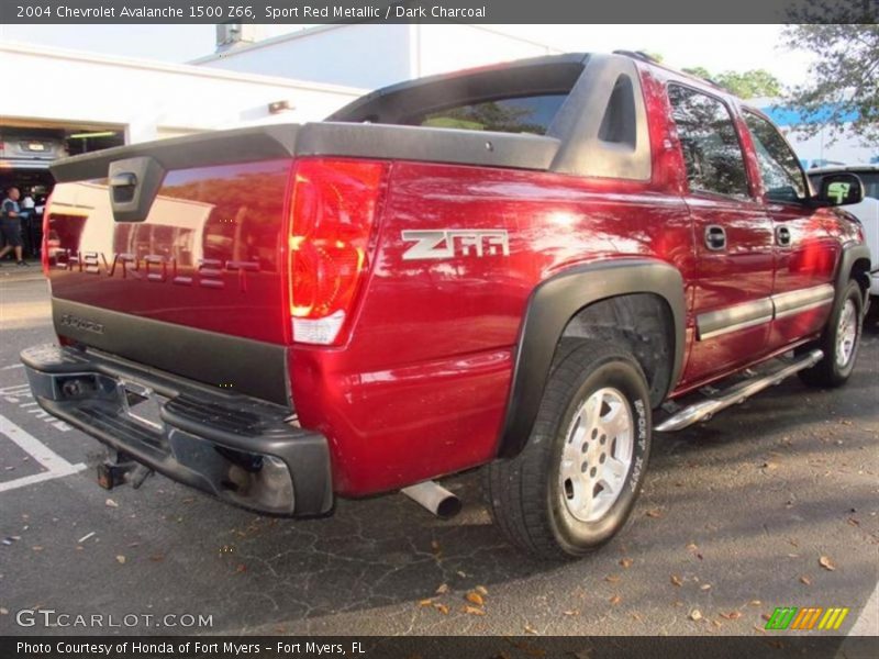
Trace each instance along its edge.
{"label": "tinted rear window glass of the cab, above the truck bed", "polygon": [[494,99],[410,118],[408,125],[546,135],[567,93]]}

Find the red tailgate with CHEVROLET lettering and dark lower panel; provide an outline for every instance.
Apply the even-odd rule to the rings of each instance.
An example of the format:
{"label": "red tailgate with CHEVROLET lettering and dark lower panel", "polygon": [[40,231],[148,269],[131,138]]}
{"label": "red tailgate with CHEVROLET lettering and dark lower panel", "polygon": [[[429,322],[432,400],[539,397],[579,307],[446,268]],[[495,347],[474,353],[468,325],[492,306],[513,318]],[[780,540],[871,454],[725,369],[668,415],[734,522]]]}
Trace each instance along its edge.
{"label": "red tailgate with CHEVROLET lettering and dark lower panel", "polygon": [[[240,142],[213,139],[203,154],[192,142],[166,153],[157,144],[155,156],[132,158],[138,145],[88,167],[60,164],[46,227],[55,328],[84,346],[288,403],[282,232],[292,157],[280,145]],[[224,164],[226,154],[245,161]],[[120,163],[141,177],[135,192],[151,197],[140,216],[119,212],[110,174]],[[122,192],[123,201],[132,193]]]}

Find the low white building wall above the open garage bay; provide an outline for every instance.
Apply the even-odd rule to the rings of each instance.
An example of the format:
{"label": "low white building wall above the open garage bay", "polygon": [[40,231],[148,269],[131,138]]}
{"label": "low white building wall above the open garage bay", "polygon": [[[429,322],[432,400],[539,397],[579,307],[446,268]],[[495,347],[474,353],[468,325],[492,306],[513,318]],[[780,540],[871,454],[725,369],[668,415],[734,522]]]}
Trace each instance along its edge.
{"label": "low white building wall above the open garage bay", "polygon": [[[38,81],[2,94],[4,127],[120,131],[125,143],[320,120],[364,93],[338,85],[0,42],[0,69]],[[271,103],[281,111],[272,113]],[[286,108],[285,108],[286,105]],[[278,105],[276,105],[276,110]]]}

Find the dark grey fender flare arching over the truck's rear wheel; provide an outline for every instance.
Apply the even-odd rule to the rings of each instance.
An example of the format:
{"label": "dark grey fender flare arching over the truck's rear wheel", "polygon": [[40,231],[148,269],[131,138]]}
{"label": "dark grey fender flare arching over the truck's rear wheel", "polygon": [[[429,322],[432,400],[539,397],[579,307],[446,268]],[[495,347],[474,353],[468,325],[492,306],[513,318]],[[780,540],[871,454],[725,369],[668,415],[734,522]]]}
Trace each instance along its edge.
{"label": "dark grey fender flare arching over the truck's rear wheel", "polygon": [[687,304],[683,278],[672,265],[650,258],[617,258],[571,267],[537,286],[519,331],[513,378],[498,457],[519,454],[531,435],[556,344],[578,311],[608,298],[654,293],[666,301],[675,323],[675,364],[665,395],[683,368]]}

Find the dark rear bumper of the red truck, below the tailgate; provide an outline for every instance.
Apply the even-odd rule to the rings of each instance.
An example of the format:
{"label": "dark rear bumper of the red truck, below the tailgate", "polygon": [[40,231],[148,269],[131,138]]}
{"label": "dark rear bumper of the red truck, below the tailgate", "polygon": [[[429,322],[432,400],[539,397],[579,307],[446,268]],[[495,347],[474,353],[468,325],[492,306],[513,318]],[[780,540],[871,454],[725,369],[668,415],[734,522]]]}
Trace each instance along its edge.
{"label": "dark rear bumper of the red truck, below the tailgate", "polygon": [[[326,438],[291,425],[288,407],[91,348],[35,346],[21,359],[44,410],[173,480],[260,513],[333,507]],[[144,399],[160,401],[158,423],[130,407]]]}

